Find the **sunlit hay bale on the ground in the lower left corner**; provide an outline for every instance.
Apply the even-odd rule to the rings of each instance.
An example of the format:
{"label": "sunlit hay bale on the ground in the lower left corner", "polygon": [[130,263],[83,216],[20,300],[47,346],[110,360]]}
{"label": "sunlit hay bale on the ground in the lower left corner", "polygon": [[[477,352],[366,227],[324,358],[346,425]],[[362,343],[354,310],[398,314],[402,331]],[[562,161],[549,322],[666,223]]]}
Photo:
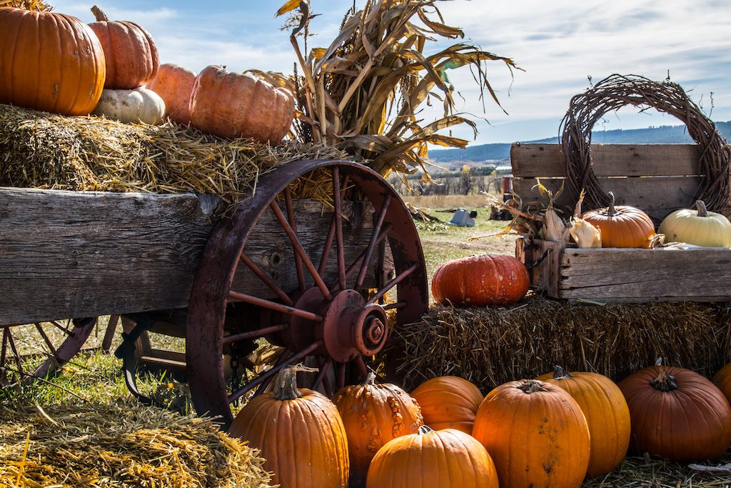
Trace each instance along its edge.
{"label": "sunlit hay bale on the ground in the lower left corner", "polygon": [[141,405],[0,409],[0,486],[269,487],[211,419]]}

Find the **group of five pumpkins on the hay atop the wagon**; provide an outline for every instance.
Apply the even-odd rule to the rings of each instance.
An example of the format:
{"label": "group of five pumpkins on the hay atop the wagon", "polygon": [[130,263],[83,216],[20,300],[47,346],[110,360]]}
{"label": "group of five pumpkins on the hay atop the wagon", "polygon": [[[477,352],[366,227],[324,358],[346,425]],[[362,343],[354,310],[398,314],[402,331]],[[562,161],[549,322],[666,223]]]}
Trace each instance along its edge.
{"label": "group of five pumpkins on the hay atop the wagon", "polygon": [[[244,73],[209,66],[195,75],[159,64],[137,23],[0,7],[0,103],[67,116],[94,113],[126,123],[165,116],[224,138],[279,143],[292,124],[292,94]],[[147,85],[147,88],[141,88]]]}

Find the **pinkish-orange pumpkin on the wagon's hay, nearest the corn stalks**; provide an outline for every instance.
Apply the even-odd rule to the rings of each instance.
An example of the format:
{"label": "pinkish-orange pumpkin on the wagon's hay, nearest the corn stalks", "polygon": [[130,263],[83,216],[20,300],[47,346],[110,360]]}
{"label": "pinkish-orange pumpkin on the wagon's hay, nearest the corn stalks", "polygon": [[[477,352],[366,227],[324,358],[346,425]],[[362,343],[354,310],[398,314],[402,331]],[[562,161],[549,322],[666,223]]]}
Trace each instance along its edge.
{"label": "pinkish-orange pumpkin on the wagon's hay, nearest the corn stalks", "polygon": [[209,66],[198,73],[190,97],[194,127],[224,138],[279,143],[292,125],[295,99],[286,89],[251,73]]}

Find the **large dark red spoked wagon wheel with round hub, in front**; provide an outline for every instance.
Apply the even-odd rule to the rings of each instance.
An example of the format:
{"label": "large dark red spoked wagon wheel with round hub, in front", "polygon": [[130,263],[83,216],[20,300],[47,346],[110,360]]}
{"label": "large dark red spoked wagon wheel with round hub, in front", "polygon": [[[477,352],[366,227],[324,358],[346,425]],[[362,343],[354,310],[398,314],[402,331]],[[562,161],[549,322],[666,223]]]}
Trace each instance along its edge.
{"label": "large dark red spoked wagon wheel with round hub, in front", "polygon": [[[323,172],[331,181],[334,211],[329,227],[314,229],[322,243],[317,252],[308,252],[298,236],[291,189],[298,179],[322,177]],[[370,205],[374,223],[370,236],[355,243],[360,250],[357,257],[346,259],[343,209],[354,200],[359,208]],[[257,228],[265,214],[276,229]],[[283,288],[278,277],[270,276],[262,263],[247,255],[246,242],[254,229],[287,235],[290,246],[280,259],[287,260],[297,275],[294,289]],[[384,272],[386,246],[393,256],[392,276]],[[260,280],[268,296],[238,290],[242,273],[247,279]],[[394,290],[395,301],[386,303],[386,294],[391,297]],[[417,320],[427,308],[419,236],[393,188],[378,173],[355,162],[290,162],[263,176],[254,196],[241,203],[230,219],[222,220],[208,240],[194,280],[186,331],[195,409],[221,416],[228,425],[232,402],[254,388],[263,391],[279,369],[308,356],[319,365],[308,386],[322,384],[332,393],[355,374],[365,378],[366,359],[387,342],[388,309],[395,309],[398,326]],[[246,349],[258,337],[284,347],[279,361],[243,385],[231,386],[225,379],[223,355],[235,356],[239,345]]]}

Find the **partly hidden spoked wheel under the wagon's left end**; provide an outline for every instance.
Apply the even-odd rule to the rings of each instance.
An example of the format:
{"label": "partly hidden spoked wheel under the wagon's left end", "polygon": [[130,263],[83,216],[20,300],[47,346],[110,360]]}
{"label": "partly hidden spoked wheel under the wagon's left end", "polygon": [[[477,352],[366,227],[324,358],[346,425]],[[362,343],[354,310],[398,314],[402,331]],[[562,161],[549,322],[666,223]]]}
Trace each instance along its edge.
{"label": "partly hidden spoked wheel under the wagon's left end", "polygon": [[94,317],[0,326],[0,385],[55,372],[79,352],[95,325]]}

